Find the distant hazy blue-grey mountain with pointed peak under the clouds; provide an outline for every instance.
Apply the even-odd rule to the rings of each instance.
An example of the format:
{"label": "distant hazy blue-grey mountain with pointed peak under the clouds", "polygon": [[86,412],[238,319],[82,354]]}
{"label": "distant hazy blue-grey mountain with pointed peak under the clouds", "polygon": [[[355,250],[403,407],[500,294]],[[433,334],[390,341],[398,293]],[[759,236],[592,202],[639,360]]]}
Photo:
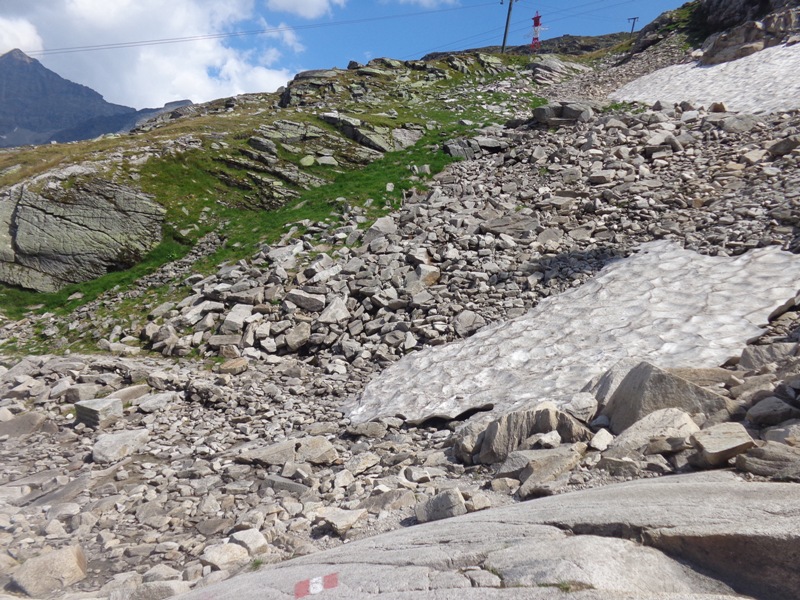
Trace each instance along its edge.
{"label": "distant hazy blue-grey mountain with pointed peak under the clouds", "polygon": [[128,131],[165,110],[106,102],[93,89],[64,79],[21,50],[0,56],[0,147],[70,142]]}

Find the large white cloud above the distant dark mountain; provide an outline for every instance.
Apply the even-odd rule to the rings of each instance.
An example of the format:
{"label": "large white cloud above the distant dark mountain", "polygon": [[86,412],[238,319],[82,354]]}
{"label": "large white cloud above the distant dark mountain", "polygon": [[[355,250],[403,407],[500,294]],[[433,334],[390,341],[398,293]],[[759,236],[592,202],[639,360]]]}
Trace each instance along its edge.
{"label": "large white cloud above the distant dark mountain", "polygon": [[[62,77],[87,85],[109,102],[136,108],[188,98],[203,102],[245,92],[272,91],[293,75],[280,68],[282,49],[302,51],[294,31],[213,38],[267,29],[256,0],[49,0],[12,3],[0,18],[0,51],[19,47],[74,48],[200,36],[181,43],[34,55]],[[260,0],[259,0],[260,1]],[[343,2],[344,0],[334,0]],[[302,3],[300,3],[302,4]],[[243,50],[239,46],[244,46]],[[6,50],[2,50],[6,47]]]}

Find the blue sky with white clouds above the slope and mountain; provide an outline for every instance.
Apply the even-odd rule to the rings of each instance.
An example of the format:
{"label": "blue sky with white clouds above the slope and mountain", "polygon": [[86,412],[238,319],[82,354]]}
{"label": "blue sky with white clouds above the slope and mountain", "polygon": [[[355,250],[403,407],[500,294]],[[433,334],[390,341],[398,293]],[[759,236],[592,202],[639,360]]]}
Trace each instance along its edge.
{"label": "blue sky with white clouds above the slope and mountain", "polygon": [[[499,45],[509,1],[0,0],[0,53],[20,48],[110,102],[203,102],[350,60]],[[639,29],[682,4],[515,0],[508,44],[530,42],[537,10],[547,39],[626,31],[630,17]]]}

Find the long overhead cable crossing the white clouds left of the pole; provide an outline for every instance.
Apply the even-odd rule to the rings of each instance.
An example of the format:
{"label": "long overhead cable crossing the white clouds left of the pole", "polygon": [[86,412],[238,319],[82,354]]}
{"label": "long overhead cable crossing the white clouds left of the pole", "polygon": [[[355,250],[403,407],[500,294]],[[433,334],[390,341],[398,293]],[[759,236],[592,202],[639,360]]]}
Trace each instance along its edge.
{"label": "long overhead cable crossing the white clouds left of the pole", "polygon": [[25,53],[29,56],[45,56],[51,54],[71,54],[75,52],[96,52],[99,50],[117,50],[122,48],[140,48],[145,46],[160,46],[165,44],[181,44],[187,42],[197,42],[197,41],[205,41],[205,40],[215,40],[215,39],[224,39],[224,38],[234,38],[234,37],[245,37],[245,36],[253,36],[253,35],[269,35],[269,34],[276,34],[276,33],[284,33],[288,31],[303,31],[307,29],[321,29],[326,27],[341,27],[344,25],[360,25],[363,23],[372,23],[376,21],[387,21],[393,19],[404,19],[410,17],[419,17],[419,16],[427,16],[436,13],[446,13],[446,12],[453,12],[453,11],[461,11],[461,10],[469,10],[473,8],[482,8],[484,6],[494,5],[494,2],[484,2],[481,4],[473,4],[471,6],[457,6],[453,8],[440,8],[437,10],[427,10],[427,11],[417,11],[417,12],[410,12],[410,13],[398,13],[394,15],[385,15],[382,17],[368,17],[363,19],[349,19],[346,21],[331,21],[329,23],[314,23],[308,25],[296,25],[296,26],[283,26],[283,27],[272,27],[269,29],[255,29],[251,31],[231,31],[228,33],[209,33],[209,34],[202,34],[202,35],[194,35],[194,36],[185,36],[185,37],[175,37],[175,38],[161,38],[155,40],[141,40],[136,42],[117,42],[117,43],[110,43],[110,44],[96,44],[91,46],[70,46],[65,48],[52,48],[52,49],[45,49],[45,50],[31,50],[26,51]]}

